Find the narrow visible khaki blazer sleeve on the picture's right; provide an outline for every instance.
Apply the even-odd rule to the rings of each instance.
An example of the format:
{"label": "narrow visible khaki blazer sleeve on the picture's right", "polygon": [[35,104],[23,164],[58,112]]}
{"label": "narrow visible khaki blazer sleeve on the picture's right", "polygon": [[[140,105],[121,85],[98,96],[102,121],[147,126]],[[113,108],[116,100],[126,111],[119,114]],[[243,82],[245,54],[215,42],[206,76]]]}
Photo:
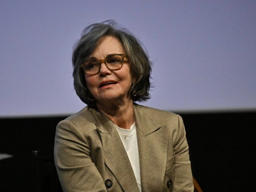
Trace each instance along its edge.
{"label": "narrow visible khaki blazer sleeve on the picture's right", "polygon": [[175,178],[173,192],[193,192],[189,147],[183,120],[178,116],[178,129],[174,132]]}

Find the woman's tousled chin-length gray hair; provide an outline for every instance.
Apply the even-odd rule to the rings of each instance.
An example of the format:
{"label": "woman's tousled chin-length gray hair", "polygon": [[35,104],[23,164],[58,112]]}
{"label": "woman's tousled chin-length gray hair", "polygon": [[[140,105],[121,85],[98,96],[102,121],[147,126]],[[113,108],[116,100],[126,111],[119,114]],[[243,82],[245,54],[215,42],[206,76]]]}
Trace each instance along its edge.
{"label": "woman's tousled chin-length gray hair", "polygon": [[[151,61],[148,58],[143,44],[125,28],[117,27],[114,20],[107,20],[102,23],[94,23],[85,27],[81,38],[73,47],[73,78],[74,89],[78,97],[87,105],[93,106],[96,100],[92,97],[87,88],[83,69],[80,64],[84,63],[93,54],[99,45],[102,37],[112,36],[119,39],[122,44],[130,64],[130,72],[136,82],[131,86],[130,98],[133,101],[146,101],[150,98],[150,75]],[[132,93],[136,91],[136,96]]]}

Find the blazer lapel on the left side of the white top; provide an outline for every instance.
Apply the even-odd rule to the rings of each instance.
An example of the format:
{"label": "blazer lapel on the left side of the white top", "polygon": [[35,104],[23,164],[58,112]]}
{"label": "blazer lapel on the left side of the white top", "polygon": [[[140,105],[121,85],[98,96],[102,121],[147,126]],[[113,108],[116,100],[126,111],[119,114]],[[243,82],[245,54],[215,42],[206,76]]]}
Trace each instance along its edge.
{"label": "blazer lapel on the left side of the white top", "polygon": [[113,123],[99,110],[90,110],[101,136],[104,161],[124,191],[139,192],[128,155]]}

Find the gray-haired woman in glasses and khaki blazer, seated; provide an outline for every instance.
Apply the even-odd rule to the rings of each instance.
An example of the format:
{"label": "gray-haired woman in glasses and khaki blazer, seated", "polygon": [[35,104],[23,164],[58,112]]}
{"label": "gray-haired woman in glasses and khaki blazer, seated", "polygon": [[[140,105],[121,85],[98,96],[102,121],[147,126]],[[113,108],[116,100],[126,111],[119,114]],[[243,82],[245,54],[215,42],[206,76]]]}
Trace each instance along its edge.
{"label": "gray-haired woman in glasses and khaki blazer, seated", "polygon": [[151,63],[112,20],[86,27],[73,50],[74,88],[88,106],[56,128],[64,192],[193,191],[180,116],[149,99]]}

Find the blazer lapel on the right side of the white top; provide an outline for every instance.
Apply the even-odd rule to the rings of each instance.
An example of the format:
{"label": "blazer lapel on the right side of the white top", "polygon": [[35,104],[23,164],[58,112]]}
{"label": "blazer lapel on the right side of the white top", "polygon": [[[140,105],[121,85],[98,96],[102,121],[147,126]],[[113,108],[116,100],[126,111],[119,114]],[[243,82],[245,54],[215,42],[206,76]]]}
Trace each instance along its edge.
{"label": "blazer lapel on the right side of the white top", "polygon": [[134,106],[142,191],[162,191],[168,135],[140,105]]}

